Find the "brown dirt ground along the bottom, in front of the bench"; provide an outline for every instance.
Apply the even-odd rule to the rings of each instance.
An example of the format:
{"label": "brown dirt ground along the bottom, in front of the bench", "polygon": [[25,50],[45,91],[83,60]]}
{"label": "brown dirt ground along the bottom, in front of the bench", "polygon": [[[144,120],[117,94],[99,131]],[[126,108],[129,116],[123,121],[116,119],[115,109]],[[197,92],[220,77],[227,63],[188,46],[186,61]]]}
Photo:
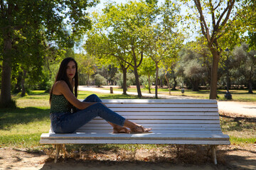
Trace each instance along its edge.
{"label": "brown dirt ground along the bottom, in front of the bench", "polygon": [[[142,156],[143,153],[138,153]],[[201,153],[190,153],[183,155],[181,161],[157,161],[157,162],[127,162],[127,161],[100,161],[83,159],[59,159],[57,164],[53,159],[48,159],[48,155],[42,153],[29,153],[26,150],[1,148],[0,149],[0,169],[34,170],[34,169],[173,169],[173,170],[219,170],[219,169],[256,169],[256,145],[220,146],[218,147],[218,165],[210,162],[210,158]],[[199,157],[198,157],[199,156]],[[198,158],[197,158],[198,157]],[[201,161],[200,159],[206,159]],[[186,160],[187,159],[187,160]],[[186,163],[188,162],[188,163]],[[193,163],[192,163],[193,162]]]}

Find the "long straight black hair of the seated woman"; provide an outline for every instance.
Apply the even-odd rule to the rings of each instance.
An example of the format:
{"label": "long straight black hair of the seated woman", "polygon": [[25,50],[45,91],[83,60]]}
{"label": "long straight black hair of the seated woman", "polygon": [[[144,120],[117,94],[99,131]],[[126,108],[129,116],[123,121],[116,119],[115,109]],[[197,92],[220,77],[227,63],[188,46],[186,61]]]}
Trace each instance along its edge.
{"label": "long straight black hair of the seated woman", "polygon": [[[75,79],[75,97],[78,97],[78,63],[72,57],[65,58],[60,63],[60,68],[58,70],[58,74],[56,76],[54,84],[55,84],[56,81],[61,81],[61,80],[65,81],[66,84],[68,84],[68,87],[70,88],[70,91],[74,94],[72,84],[70,84],[70,81],[68,79],[68,75],[67,75],[67,72],[66,72],[67,67],[68,67],[68,63],[71,62],[71,61],[75,62],[75,77],[74,77],[74,79]],[[53,94],[53,86],[50,89],[50,101],[51,101],[51,98],[52,98],[52,94]]]}

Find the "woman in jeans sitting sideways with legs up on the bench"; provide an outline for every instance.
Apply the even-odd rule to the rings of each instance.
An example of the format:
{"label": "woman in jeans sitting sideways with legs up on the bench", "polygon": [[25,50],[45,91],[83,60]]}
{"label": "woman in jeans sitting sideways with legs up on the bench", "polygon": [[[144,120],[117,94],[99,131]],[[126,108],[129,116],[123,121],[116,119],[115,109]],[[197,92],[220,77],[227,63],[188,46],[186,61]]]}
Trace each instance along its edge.
{"label": "woman in jeans sitting sideways with legs up on the bench", "polygon": [[82,102],[77,96],[78,64],[73,58],[68,57],[61,62],[55,83],[50,90],[50,121],[53,132],[75,132],[97,116],[107,120],[112,125],[114,133],[139,133],[151,130],[111,111],[95,94],[88,96]]}

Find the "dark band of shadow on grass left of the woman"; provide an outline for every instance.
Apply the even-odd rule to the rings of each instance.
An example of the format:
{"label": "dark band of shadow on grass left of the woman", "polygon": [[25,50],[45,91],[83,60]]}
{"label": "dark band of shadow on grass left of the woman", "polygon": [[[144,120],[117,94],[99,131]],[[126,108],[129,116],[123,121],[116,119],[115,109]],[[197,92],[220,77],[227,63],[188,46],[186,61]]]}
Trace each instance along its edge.
{"label": "dark band of shadow on grass left of the woman", "polygon": [[8,129],[13,125],[31,123],[33,121],[49,119],[50,109],[43,108],[1,108],[0,129]]}

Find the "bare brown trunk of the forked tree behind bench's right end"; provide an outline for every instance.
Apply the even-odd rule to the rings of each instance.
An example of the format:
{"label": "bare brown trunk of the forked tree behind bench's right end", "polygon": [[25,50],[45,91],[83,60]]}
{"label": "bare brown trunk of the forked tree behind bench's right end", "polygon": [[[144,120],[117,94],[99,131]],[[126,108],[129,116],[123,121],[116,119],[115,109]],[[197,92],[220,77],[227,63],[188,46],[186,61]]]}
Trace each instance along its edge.
{"label": "bare brown trunk of the forked tree behind bench's right end", "polygon": [[214,50],[211,51],[213,55],[213,66],[210,74],[210,99],[217,98],[217,82],[218,82],[218,61],[220,55]]}

